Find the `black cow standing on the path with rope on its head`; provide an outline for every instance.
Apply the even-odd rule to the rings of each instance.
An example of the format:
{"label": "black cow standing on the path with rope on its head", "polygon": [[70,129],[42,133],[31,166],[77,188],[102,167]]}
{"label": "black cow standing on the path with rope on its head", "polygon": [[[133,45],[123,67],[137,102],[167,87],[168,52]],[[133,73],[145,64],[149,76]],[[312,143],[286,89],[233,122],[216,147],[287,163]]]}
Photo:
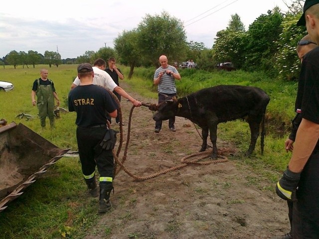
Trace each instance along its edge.
{"label": "black cow standing on the path with rope on its head", "polygon": [[161,103],[153,119],[166,120],[179,116],[191,120],[202,128],[200,151],[207,148],[208,130],[213,144],[211,158],[217,158],[217,124],[235,119],[245,119],[251,131],[250,145],[246,155],[250,155],[261,132],[261,153],[264,151],[265,112],[269,96],[260,88],[237,85],[220,85],[199,90],[180,99],[169,99]]}

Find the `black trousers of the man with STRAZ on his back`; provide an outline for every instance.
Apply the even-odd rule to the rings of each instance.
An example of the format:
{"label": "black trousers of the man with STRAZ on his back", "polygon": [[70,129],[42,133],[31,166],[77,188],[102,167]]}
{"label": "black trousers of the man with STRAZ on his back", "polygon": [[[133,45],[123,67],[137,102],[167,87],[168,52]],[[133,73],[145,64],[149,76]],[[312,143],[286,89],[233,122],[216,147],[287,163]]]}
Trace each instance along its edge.
{"label": "black trousers of the man with STRAZ on his back", "polygon": [[95,172],[97,167],[101,177],[114,177],[114,158],[112,150],[100,150],[99,143],[103,139],[107,127],[77,127],[76,138],[82,173],[86,176]]}

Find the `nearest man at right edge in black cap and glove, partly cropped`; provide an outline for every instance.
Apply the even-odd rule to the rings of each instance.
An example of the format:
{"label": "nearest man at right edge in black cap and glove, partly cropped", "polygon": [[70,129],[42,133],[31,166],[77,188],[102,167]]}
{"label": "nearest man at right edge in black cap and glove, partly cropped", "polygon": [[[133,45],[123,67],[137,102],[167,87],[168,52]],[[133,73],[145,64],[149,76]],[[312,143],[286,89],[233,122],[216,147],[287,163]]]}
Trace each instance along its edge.
{"label": "nearest man at right edge in black cap and glove, partly cropped", "polygon": [[[319,0],[306,0],[297,25],[319,44]],[[276,193],[293,205],[293,239],[319,239],[319,48],[303,58],[295,103],[302,117],[292,157]]]}

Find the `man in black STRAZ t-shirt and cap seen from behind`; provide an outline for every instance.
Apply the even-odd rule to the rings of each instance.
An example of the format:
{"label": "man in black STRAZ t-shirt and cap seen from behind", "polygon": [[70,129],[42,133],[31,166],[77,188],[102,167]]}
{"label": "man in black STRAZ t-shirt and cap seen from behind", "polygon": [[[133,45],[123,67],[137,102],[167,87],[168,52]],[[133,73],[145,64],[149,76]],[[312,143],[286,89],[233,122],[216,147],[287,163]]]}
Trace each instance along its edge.
{"label": "man in black STRAZ t-shirt and cap seen from behind", "polygon": [[[76,112],[76,138],[84,180],[92,197],[99,197],[100,213],[111,209],[116,131],[106,125],[105,112],[117,116],[117,104],[103,87],[93,85],[94,72],[89,63],[77,68],[80,85],[68,96],[69,112]],[[95,181],[95,167],[100,174],[100,194]]]}

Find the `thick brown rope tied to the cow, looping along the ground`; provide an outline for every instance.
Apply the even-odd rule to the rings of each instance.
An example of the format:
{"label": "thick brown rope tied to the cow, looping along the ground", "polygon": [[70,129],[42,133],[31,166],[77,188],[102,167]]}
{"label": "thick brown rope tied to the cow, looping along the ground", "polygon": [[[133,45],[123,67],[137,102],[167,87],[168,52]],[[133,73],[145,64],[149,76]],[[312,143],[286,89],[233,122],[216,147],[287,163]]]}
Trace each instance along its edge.
{"label": "thick brown rope tied to the cow, looping along the ground", "polygon": [[[150,104],[150,103],[144,103],[144,102],[142,102],[142,106],[148,107],[149,110],[151,110],[151,111],[157,111],[158,107],[159,107],[156,104]],[[118,149],[116,154],[114,153],[115,165],[117,165],[117,164],[120,165],[120,168],[115,167],[114,177],[123,169],[129,176],[134,178],[136,181],[144,181],[144,180],[152,179],[152,178],[155,178],[155,177],[160,176],[162,174],[165,174],[165,173],[168,173],[168,172],[171,172],[171,171],[174,171],[174,170],[177,170],[177,169],[189,166],[189,165],[208,165],[208,164],[212,164],[212,163],[215,164],[215,163],[222,163],[222,162],[228,161],[227,157],[222,156],[222,155],[217,155],[217,157],[220,158],[218,160],[208,160],[208,161],[198,162],[199,160],[207,158],[207,157],[209,157],[209,155],[211,155],[212,150],[208,150],[208,151],[204,151],[204,152],[196,152],[196,153],[187,155],[181,159],[181,164],[176,165],[174,167],[167,168],[165,170],[162,170],[162,171],[159,171],[156,173],[153,173],[153,174],[148,175],[148,176],[138,176],[138,175],[133,174],[130,170],[128,170],[124,166],[124,163],[127,159],[127,152],[128,152],[128,147],[129,147],[129,142],[130,142],[130,134],[131,134],[131,122],[132,122],[134,108],[135,108],[135,106],[132,106],[131,111],[130,111],[130,115],[129,115],[127,140],[126,140],[126,145],[125,145],[125,150],[124,150],[124,155],[123,155],[122,161],[120,161],[119,157],[118,157],[119,152],[120,152],[120,148]],[[120,121],[122,122],[122,115],[121,115]],[[122,127],[122,125],[120,123],[120,131],[121,131],[121,139],[122,139],[123,130],[121,127]],[[120,142],[120,145],[122,145],[122,142]],[[192,160],[187,160],[187,159],[194,157],[194,156],[199,156],[199,157],[192,159]]]}

